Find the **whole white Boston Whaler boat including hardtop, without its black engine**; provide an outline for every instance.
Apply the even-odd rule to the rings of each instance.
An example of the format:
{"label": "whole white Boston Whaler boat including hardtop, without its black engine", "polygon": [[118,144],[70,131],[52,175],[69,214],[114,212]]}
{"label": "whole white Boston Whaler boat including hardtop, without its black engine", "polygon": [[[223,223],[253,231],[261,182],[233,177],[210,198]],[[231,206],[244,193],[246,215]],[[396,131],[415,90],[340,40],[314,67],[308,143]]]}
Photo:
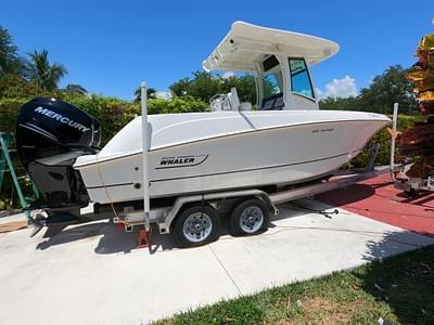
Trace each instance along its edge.
{"label": "whole white Boston Whaler boat including hardtop, without its black engine", "polygon": [[[214,112],[151,115],[150,197],[294,184],[349,161],[390,119],[318,109],[309,68],[337,50],[321,38],[234,23],[203,66],[255,74],[258,102],[240,103],[232,90],[212,103]],[[264,78],[277,81],[267,98]],[[92,202],[142,197],[141,139],[137,117],[100,153],[77,158]]]}

